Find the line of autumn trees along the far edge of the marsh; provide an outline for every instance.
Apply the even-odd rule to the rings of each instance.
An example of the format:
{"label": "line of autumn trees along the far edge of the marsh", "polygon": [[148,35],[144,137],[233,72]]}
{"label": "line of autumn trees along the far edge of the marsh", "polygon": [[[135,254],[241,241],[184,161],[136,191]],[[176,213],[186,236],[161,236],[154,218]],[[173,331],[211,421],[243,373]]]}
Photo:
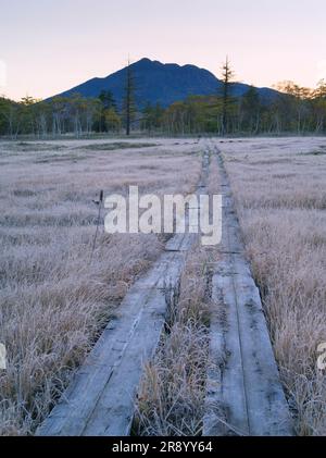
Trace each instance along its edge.
{"label": "line of autumn trees along the far edge of the marsh", "polygon": [[262,99],[258,89],[249,87],[241,97],[235,97],[234,72],[228,60],[222,69],[221,88],[212,96],[191,96],[163,108],[145,103],[136,108],[135,79],[131,66],[126,71],[125,94],[117,107],[110,90],[97,98],[79,94],[37,100],[25,97],[16,102],[0,97],[0,135],[16,138],[32,135],[37,138],[92,133],[120,134],[142,131],[149,135],[259,135],[326,132],[326,82],[315,89],[292,82],[278,84],[278,94],[271,100]]}

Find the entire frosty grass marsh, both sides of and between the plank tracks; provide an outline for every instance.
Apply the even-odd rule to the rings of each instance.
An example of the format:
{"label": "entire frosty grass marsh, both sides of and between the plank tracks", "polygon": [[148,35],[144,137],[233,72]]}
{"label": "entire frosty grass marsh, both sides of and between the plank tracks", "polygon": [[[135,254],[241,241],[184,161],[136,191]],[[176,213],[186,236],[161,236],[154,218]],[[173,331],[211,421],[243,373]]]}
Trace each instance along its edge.
{"label": "entire frosty grass marsh, both sides of and between the plank tracks", "polygon": [[[325,435],[326,374],[316,360],[326,342],[326,138],[210,141],[230,180],[296,433]],[[1,435],[35,433],[164,249],[166,235],[106,234],[103,214],[97,233],[100,190],[193,193],[204,147],[193,138],[0,143]],[[210,191],[218,191],[218,174]],[[189,255],[180,292],[187,313],[146,368],[139,434],[200,434],[205,256]]]}

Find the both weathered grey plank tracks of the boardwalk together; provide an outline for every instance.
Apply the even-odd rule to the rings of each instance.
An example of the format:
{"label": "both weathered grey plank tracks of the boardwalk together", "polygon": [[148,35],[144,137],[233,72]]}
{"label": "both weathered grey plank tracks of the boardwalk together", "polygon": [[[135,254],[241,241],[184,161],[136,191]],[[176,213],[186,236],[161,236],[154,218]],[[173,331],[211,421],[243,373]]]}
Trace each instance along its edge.
{"label": "both weathered grey plank tracks of the boardwalk together", "polygon": [[[211,363],[203,435],[290,435],[288,406],[259,290],[243,255],[223,159],[206,145],[198,194],[216,160],[223,195],[223,240],[213,262]],[[129,289],[113,319],[37,435],[130,434],[143,362],[154,354],[165,323],[166,294],[178,289],[185,257],[197,239],[176,234],[150,271]],[[171,297],[170,297],[171,299]]]}

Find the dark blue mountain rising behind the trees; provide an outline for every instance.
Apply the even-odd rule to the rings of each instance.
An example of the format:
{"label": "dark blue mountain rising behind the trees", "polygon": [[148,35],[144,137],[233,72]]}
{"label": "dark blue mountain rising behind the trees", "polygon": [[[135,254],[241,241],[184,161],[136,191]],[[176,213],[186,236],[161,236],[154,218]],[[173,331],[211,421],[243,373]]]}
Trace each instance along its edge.
{"label": "dark blue mountain rising behind the trees", "polygon": [[[133,63],[133,75],[136,87],[136,102],[139,108],[147,102],[161,103],[167,107],[171,103],[184,100],[188,96],[210,96],[216,94],[222,83],[211,72],[199,69],[196,65],[178,65],[175,63],[163,64],[150,59],[141,59]],[[60,96],[80,94],[84,97],[98,97],[102,90],[110,89],[117,104],[122,104],[126,82],[126,67],[112,73],[104,78],[92,78]],[[249,85],[242,83],[233,84],[235,97],[242,96]],[[258,88],[261,98],[268,101],[277,94],[269,88]]]}

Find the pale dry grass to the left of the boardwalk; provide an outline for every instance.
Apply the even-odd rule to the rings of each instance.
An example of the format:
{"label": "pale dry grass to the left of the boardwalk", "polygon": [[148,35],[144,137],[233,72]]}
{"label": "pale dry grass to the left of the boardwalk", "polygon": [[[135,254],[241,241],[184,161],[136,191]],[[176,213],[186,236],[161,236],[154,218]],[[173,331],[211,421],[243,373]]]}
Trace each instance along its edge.
{"label": "pale dry grass to the left of the boardwalk", "polygon": [[129,285],[161,252],[156,235],[101,228],[90,261],[99,190],[187,193],[199,177],[193,141],[123,150],[99,140],[91,150],[90,143],[0,143],[0,342],[8,350],[1,435],[35,431]]}

